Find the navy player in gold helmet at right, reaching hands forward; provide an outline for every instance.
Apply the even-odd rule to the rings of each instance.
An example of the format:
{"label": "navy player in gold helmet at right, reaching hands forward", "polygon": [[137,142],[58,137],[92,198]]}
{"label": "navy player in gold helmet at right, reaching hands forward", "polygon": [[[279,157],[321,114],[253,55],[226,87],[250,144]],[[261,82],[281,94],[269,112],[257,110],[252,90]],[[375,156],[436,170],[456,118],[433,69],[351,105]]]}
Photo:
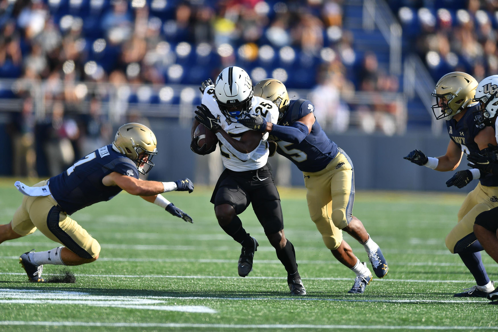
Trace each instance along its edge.
{"label": "navy player in gold helmet at right, reaching hands forward", "polygon": [[[404,158],[419,166],[446,172],[458,167],[464,153],[471,160],[487,149],[488,144],[496,145],[495,130],[476,121],[476,115],[482,115],[479,103],[473,102],[477,86],[475,78],[462,72],[448,73],[439,79],[432,94],[436,98],[432,109],[437,119],[446,119],[450,136],[446,153],[432,158],[413,150]],[[451,253],[460,256],[476,279],[476,285],[454,294],[455,297],[486,297],[495,289],[481,259],[483,247],[474,234],[474,223],[482,212],[498,207],[498,176],[486,175],[479,169],[463,170],[456,172],[446,185],[462,188],[473,179],[479,179],[479,183],[462,203],[458,222],[446,236],[445,243]]]}

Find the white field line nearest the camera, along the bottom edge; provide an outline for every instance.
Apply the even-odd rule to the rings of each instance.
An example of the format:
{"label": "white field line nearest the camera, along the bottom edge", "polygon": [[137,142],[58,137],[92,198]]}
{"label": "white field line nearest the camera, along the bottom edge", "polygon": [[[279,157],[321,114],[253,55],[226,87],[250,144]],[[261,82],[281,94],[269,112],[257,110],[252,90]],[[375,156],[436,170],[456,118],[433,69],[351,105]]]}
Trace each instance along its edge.
{"label": "white field line nearest the camera, along the bottom edge", "polygon": [[112,328],[213,328],[213,329],[329,329],[329,330],[496,330],[498,326],[385,326],[385,325],[311,325],[311,324],[187,324],[187,323],[107,323],[107,322],[21,322],[0,321],[0,325],[85,326]]}

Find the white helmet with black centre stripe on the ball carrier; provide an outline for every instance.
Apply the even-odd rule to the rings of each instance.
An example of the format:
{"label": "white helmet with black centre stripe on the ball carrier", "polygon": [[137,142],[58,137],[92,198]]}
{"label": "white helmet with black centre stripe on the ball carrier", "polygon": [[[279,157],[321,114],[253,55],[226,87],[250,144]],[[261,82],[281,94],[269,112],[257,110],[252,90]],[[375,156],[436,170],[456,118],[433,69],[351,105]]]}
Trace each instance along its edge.
{"label": "white helmet with black centre stripe on the ball carrier", "polygon": [[215,82],[215,98],[220,111],[237,121],[243,112],[249,112],[252,101],[252,81],[242,68],[225,68]]}

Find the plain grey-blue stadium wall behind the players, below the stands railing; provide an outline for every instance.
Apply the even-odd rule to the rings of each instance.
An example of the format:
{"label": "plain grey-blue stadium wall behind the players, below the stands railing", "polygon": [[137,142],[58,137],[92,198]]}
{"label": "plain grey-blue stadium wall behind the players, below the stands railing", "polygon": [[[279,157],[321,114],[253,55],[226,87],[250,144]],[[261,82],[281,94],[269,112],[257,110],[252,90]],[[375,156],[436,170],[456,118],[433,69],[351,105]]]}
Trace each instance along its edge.
{"label": "plain grey-blue stadium wall behind the players, below the stands railing", "polygon": [[[181,127],[176,120],[163,119],[151,121],[151,127],[158,139],[159,153],[154,157],[157,166],[151,171],[150,179],[164,181],[187,176],[192,177],[194,182],[205,183],[206,177],[199,179],[199,174],[207,167],[207,157],[190,151],[190,127]],[[331,133],[329,137],[353,160],[357,189],[467,192],[477,184],[475,180],[463,189],[447,188],[445,182],[454,172],[437,172],[403,159],[415,148],[428,156],[443,155],[448,146],[447,135],[435,137],[429,132],[409,132],[403,136],[388,137],[349,132]],[[276,164],[275,157],[269,161],[272,165]],[[468,168],[464,157],[457,170]],[[274,177],[277,176],[278,167],[274,167]],[[291,167],[290,184],[304,186],[303,175],[294,165]]]}

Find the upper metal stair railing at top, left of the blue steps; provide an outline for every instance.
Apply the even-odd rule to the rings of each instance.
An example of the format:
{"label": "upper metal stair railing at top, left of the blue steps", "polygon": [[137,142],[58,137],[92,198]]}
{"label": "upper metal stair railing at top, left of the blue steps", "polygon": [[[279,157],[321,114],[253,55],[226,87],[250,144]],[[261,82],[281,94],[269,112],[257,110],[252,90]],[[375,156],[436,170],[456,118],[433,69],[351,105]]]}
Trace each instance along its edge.
{"label": "upper metal stair railing at top, left of the blue steps", "polygon": [[377,25],[389,45],[389,72],[401,74],[402,28],[384,0],[364,0],[363,29],[372,31]]}

